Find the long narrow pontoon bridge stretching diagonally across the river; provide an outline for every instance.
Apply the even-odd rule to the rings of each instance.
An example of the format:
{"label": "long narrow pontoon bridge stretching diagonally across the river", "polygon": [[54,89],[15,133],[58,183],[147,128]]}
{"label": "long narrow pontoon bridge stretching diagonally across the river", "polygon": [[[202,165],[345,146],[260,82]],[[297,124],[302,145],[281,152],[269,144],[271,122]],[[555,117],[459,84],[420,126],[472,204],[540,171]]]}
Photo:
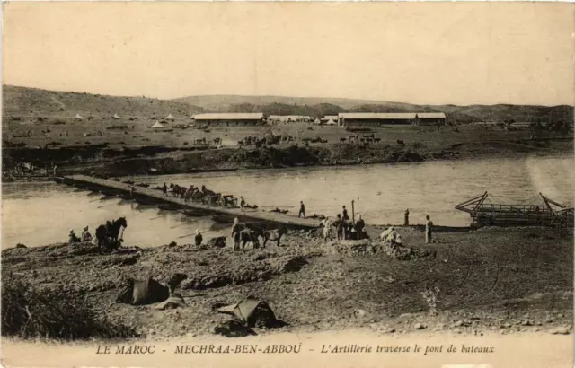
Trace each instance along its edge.
{"label": "long narrow pontoon bridge stretching diagonally across the river", "polygon": [[[319,220],[312,218],[298,218],[295,215],[284,215],[275,212],[264,212],[258,210],[246,210],[242,212],[240,208],[226,208],[221,206],[207,206],[198,202],[183,202],[172,194],[164,197],[162,190],[153,188],[143,188],[139,186],[122,183],[115,180],[105,180],[93,178],[87,175],[70,175],[65,177],[55,177],[55,181],[76,188],[83,188],[99,191],[105,195],[118,196],[124,199],[133,199],[138,203],[157,205],[165,209],[183,210],[184,213],[213,215],[220,222],[232,223],[237,217],[241,222],[260,223],[261,227],[268,227],[265,224],[282,224],[290,229],[313,229],[318,227]],[[131,188],[134,188],[131,194]]]}

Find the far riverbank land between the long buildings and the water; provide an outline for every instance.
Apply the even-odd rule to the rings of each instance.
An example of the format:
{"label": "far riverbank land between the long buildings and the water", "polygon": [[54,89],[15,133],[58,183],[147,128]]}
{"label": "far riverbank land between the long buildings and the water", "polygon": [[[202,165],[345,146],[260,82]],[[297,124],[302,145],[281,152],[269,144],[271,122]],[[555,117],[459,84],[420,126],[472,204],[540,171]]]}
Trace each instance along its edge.
{"label": "far riverbank land between the long buildings and the water", "polygon": [[[68,119],[69,120],[69,119]],[[172,124],[188,124],[176,121]],[[530,154],[556,155],[573,152],[572,137],[543,131],[531,139],[529,129],[485,130],[478,126],[417,127],[394,126],[372,129],[378,143],[367,146],[341,143],[350,133],[341,127],[311,123],[281,123],[262,127],[212,127],[209,132],[195,128],[155,131],[150,121],[48,119],[41,123],[7,121],[3,131],[6,175],[15,162],[31,162],[35,174],[45,175],[52,163],[58,173],[102,177],[174,174],[195,171],[269,169],[295,166],[358,165],[370,163],[425,162],[478,158],[524,158]],[[122,127],[123,126],[123,127]],[[110,129],[111,127],[122,127]],[[47,132],[49,133],[42,133]],[[30,131],[30,136],[28,132]],[[280,145],[240,148],[246,136],[262,137],[268,132],[292,136],[295,141]],[[101,132],[102,135],[99,135]],[[84,136],[88,135],[88,136]],[[196,139],[208,142],[219,137],[223,145],[198,149]],[[322,137],[327,143],[306,143]],[[400,143],[398,143],[400,142]],[[13,148],[6,148],[13,145]],[[16,145],[16,146],[14,146]],[[41,148],[41,149],[35,149]],[[49,172],[51,173],[51,172]],[[6,180],[15,180],[12,175]]]}

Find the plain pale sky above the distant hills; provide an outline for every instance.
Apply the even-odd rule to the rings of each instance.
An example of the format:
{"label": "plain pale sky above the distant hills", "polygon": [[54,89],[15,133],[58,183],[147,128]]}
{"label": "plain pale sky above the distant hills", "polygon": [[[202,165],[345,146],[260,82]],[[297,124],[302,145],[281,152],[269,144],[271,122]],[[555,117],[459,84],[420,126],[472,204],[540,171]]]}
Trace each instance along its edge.
{"label": "plain pale sky above the distant hills", "polygon": [[4,84],[163,99],[574,101],[573,4],[3,5]]}

